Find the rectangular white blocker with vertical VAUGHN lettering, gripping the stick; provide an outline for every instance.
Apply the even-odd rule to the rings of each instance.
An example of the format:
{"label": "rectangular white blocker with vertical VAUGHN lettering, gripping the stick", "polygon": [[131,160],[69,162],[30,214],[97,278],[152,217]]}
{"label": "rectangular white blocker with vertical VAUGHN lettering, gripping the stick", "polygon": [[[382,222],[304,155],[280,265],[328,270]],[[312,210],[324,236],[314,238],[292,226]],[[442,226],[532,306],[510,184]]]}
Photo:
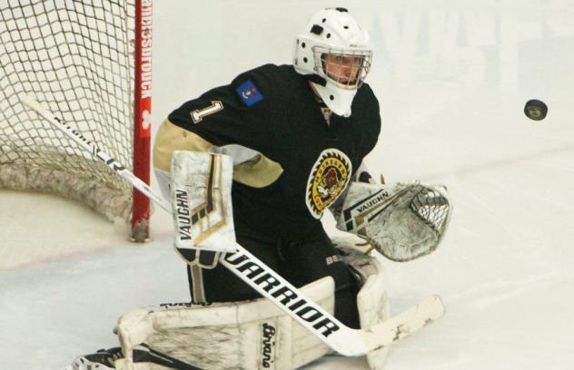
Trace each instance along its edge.
{"label": "rectangular white blocker with vertical VAUGHN lettering, gripping the stick", "polygon": [[214,268],[235,251],[233,160],[224,154],[174,151],[171,198],[175,249],[190,265]]}

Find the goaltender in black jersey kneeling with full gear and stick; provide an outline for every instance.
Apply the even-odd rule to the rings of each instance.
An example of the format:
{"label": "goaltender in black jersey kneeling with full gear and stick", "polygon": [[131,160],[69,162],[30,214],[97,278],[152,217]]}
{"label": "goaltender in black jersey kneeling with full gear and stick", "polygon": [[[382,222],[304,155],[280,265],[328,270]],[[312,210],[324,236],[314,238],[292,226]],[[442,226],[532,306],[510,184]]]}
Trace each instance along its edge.
{"label": "goaltender in black jersey kneeling with full gear and stick", "polygon": [[[442,314],[435,297],[389,317],[377,255],[431,253],[451,206],[440,185],[375,184],[366,170],[381,131],[371,58],[349,12],[324,9],[292,64],[241,73],[167,117],[153,165],[191,302],[126,313],[120,347],[66,369],[293,369],[332,352],[381,369],[389,344]],[[327,235],[325,209],[347,236]]]}

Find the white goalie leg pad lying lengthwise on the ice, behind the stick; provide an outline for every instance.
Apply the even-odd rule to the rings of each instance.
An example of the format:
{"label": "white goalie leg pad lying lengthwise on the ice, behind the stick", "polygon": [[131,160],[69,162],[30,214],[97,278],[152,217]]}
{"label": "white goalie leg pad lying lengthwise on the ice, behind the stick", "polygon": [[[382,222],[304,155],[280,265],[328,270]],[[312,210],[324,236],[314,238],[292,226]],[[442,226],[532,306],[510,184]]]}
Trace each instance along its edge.
{"label": "white goalie leg pad lying lengthwise on the ice, behind the stick", "polygon": [[[316,280],[302,287],[302,292],[333,312],[332,277]],[[116,330],[124,353],[124,358],[115,362],[120,370],[193,366],[287,370],[332,352],[266,299],[138,308],[122,316]],[[137,354],[146,350],[152,359],[148,356],[148,361],[140,362]]]}

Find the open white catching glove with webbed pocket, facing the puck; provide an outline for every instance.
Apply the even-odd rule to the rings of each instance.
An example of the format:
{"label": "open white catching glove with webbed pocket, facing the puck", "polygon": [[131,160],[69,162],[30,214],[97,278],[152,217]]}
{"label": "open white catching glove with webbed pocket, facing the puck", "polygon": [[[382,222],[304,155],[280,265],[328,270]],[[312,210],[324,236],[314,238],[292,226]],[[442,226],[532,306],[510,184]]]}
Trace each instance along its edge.
{"label": "open white catching glove with webbed pocket, facing the puck", "polygon": [[337,229],[367,239],[386,258],[405,262],[439,246],[451,211],[441,185],[351,182]]}

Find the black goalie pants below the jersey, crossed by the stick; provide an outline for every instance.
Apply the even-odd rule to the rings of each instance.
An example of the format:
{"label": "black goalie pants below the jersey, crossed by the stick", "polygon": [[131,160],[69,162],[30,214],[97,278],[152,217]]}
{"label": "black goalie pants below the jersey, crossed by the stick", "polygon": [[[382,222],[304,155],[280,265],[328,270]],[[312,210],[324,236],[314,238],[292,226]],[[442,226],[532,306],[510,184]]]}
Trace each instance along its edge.
{"label": "black goalie pants below the jersey, crossed by the stick", "polygon": [[[237,231],[237,230],[236,230]],[[360,284],[322,227],[301,240],[269,239],[254,233],[237,233],[237,241],[295,287],[321,277],[335,281],[335,317],[359,328],[357,293]],[[221,265],[187,268],[193,303],[232,302],[262,297]]]}

